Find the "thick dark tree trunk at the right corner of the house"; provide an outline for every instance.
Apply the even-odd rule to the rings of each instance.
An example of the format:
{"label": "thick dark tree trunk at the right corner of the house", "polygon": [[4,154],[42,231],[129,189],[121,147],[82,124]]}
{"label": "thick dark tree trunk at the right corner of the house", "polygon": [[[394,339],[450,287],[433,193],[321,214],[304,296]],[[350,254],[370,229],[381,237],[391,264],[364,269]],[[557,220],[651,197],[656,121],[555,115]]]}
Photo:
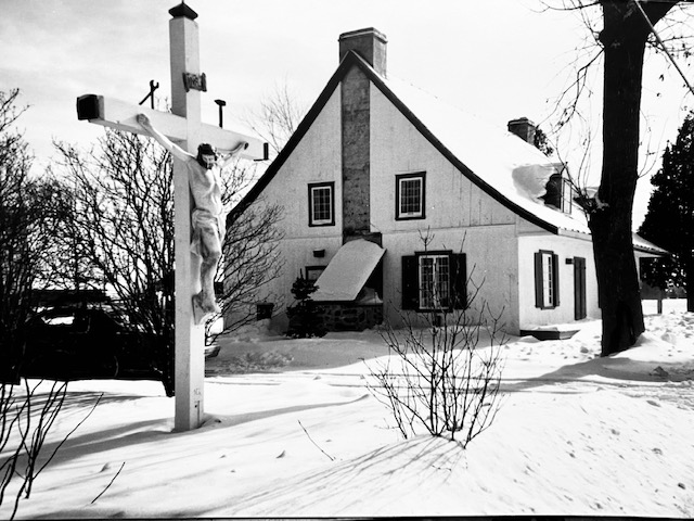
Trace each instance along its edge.
{"label": "thick dark tree trunk at the right corner of the house", "polygon": [[[631,236],[639,178],[639,116],[647,23],[631,2],[603,1],[603,168],[590,215],[602,308],[602,356],[629,348],[645,330]],[[644,4],[655,24],[671,4]]]}

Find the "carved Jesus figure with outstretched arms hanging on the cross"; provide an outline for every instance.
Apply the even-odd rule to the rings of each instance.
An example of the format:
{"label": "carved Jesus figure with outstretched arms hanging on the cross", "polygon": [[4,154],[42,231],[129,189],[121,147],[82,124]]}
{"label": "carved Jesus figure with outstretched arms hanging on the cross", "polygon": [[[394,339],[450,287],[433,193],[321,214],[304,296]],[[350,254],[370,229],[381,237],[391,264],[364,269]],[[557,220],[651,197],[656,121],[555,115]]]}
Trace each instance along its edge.
{"label": "carved Jesus figure with outstretched arms hanging on the cross", "polygon": [[138,124],[171,155],[184,162],[188,167],[189,186],[195,203],[191,217],[193,228],[191,252],[202,258],[200,269],[202,290],[193,295],[193,307],[201,312],[195,314],[196,317],[221,313],[215,300],[215,274],[221,258],[221,246],[226,231],[219,176],[233,156],[246,149],[248,143],[242,141],[234,150],[223,156],[218,155],[213,145],[202,143],[197,148],[196,157],[154,128],[146,115],[138,114]]}

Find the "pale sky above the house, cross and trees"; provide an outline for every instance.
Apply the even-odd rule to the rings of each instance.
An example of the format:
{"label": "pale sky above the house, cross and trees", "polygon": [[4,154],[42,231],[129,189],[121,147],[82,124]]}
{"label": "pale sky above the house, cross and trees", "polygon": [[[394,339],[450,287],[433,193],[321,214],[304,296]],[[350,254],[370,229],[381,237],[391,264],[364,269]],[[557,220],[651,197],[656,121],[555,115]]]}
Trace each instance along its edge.
{"label": "pale sky above the house, cross and trees", "polygon": [[[557,3],[558,0],[553,0]],[[552,0],[550,1],[550,3]],[[77,97],[97,93],[130,103],[159,84],[170,92],[168,10],[176,0],[1,0],[0,89],[20,88],[28,111],[20,128],[35,152],[35,169],[55,160],[52,140],[88,147],[103,129],[78,122]],[[552,136],[556,99],[573,79],[591,35],[575,12],[547,11],[540,0],[191,0],[198,17],[202,71],[207,77],[203,120],[258,113],[278,88],[308,107],[338,64],[340,34],[375,27],[388,39],[388,74],[406,79],[499,126],[528,117]],[[602,64],[597,63],[599,67]],[[686,65],[683,63],[683,65]],[[588,126],[599,128],[600,68],[589,82]],[[685,67],[691,74],[691,68]],[[660,79],[663,76],[663,79]],[[694,106],[663,55],[644,74],[644,156],[634,220],[645,212],[648,174],[659,166],[685,111]],[[588,114],[588,113],[587,113]],[[584,147],[577,130],[557,143],[577,170]],[[597,183],[599,138],[589,176]]]}

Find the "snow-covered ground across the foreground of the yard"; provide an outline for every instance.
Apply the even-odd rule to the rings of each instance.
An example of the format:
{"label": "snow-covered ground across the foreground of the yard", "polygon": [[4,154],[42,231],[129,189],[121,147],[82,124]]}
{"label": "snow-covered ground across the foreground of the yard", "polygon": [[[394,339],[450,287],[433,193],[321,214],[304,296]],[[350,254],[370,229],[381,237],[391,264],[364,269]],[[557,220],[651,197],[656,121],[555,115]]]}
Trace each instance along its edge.
{"label": "snow-covered ground across the foreground of the yard", "polygon": [[227,340],[194,432],[171,432],[159,383],[74,382],[51,440],[104,396],[18,517],[694,517],[694,314],[644,304],[648,332],[608,358],[597,321],[512,338],[501,409],[465,450],[393,429],[364,386],[374,331]]}

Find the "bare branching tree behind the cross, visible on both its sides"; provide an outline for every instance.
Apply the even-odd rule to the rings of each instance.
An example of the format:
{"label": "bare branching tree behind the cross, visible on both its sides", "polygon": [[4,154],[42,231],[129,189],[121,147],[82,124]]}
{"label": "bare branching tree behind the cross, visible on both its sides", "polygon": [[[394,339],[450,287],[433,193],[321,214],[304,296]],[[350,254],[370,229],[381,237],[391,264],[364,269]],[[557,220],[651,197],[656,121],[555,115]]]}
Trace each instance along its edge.
{"label": "bare branching tree behind the cross, visible on both its sides", "polygon": [[[74,183],[75,212],[65,227],[65,255],[75,254],[91,267],[92,284],[106,284],[133,323],[168,339],[156,356],[168,393],[172,392],[174,338],[174,200],[171,158],[154,141],[106,130],[88,154],[55,143],[62,167]],[[231,207],[253,182],[257,166],[239,160],[222,173],[223,201]],[[222,315],[233,315],[224,332],[247,323],[257,290],[278,275],[275,224],[279,208],[248,213],[228,223],[224,258],[218,270],[217,293]],[[77,245],[75,245],[75,242]],[[76,263],[65,263],[72,266]],[[69,272],[65,275],[69,276]],[[95,276],[95,278],[94,278]],[[85,278],[85,276],[82,276]],[[207,321],[209,344],[215,335]]]}

